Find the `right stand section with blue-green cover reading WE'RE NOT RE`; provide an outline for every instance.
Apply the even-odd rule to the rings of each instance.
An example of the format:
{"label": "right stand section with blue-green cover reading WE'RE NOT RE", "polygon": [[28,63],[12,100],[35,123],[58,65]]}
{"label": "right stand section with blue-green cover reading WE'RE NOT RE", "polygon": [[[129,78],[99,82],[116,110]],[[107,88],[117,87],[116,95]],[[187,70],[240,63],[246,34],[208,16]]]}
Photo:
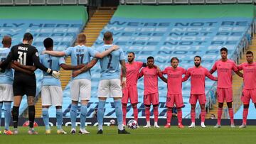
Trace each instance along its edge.
{"label": "right stand section with blue-green cover reading WE'RE NOT RE", "polygon": [[[181,67],[192,67],[193,57],[201,55],[203,66],[210,70],[213,62],[220,58],[219,49],[223,46],[228,48],[229,58],[238,61],[238,55],[250,41],[250,36],[247,35],[252,32],[254,6],[189,6],[189,11],[187,8],[187,6],[119,6],[93,46],[102,45],[102,33],[112,31],[114,43],[120,45],[125,52],[134,51],[137,60],[142,62],[146,62],[146,57],[152,55],[155,57],[156,65],[159,65],[161,69],[170,65],[169,61],[173,56],[180,58]],[[202,11],[204,12],[202,13]],[[97,107],[99,65],[92,68],[91,73],[92,98],[87,114],[89,117],[93,116],[92,112]],[[143,117],[142,79],[139,80],[138,89],[139,117]],[[215,82],[207,80],[206,89],[209,109],[215,99]],[[189,93],[190,82],[183,83],[185,103],[183,118],[190,117]],[[68,94],[68,91],[65,90],[65,94]],[[164,117],[166,113],[166,84],[160,81],[159,96],[159,116]],[[66,108],[63,116],[68,117],[70,116],[68,113],[70,106],[66,106],[68,107],[63,106],[64,109]],[[106,107],[108,109],[105,111],[105,116],[113,117],[112,99],[107,101]],[[127,116],[132,116],[132,110],[128,109],[127,111]]]}

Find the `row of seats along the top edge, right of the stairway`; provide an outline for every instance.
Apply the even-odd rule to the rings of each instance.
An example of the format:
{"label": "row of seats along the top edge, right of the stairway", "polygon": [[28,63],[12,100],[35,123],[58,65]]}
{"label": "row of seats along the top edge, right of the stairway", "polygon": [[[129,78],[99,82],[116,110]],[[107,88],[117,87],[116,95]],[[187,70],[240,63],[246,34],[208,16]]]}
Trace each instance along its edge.
{"label": "row of seats along the top edge, right of the stairway", "polygon": [[252,4],[256,0],[120,0],[120,4]]}

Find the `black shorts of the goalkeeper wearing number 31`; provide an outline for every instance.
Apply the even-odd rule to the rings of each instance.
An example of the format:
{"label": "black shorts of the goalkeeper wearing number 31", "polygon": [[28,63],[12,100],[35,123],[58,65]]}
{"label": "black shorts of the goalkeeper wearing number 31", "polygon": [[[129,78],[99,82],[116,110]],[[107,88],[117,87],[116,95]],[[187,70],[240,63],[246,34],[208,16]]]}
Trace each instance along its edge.
{"label": "black shorts of the goalkeeper wearing number 31", "polygon": [[13,89],[14,96],[36,96],[36,76],[15,75]]}

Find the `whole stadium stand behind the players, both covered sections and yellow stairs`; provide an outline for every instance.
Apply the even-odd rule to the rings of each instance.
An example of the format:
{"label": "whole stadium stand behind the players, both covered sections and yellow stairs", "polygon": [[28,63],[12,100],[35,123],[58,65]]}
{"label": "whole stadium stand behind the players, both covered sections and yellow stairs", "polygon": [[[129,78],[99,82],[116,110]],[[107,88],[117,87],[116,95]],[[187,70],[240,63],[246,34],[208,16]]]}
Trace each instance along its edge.
{"label": "whole stadium stand behind the players, both covered sections and yellow stairs", "polygon": [[[185,2],[184,2],[185,1]],[[216,2],[217,1],[217,2]],[[228,0],[223,0],[228,1]],[[19,1],[26,3],[26,1]],[[77,1],[84,2],[87,1]],[[154,4],[154,1],[122,1],[122,4]],[[157,4],[164,3],[186,3],[186,0],[164,1],[158,0]],[[191,3],[191,1],[189,1]],[[212,2],[212,3],[211,3]],[[218,0],[193,0],[193,4],[220,3]],[[232,3],[231,1],[230,3]],[[235,1],[237,3],[238,1]],[[74,1],[29,1],[29,5],[44,4],[75,4]],[[191,4],[192,4],[191,3]],[[228,2],[227,2],[228,3]],[[0,1],[0,4],[14,5],[14,1]],[[15,2],[16,4],[16,2]],[[27,4],[26,4],[27,5]],[[15,11],[13,10],[15,9]],[[47,13],[43,13],[43,9],[47,9]],[[133,11],[130,11],[132,9]],[[210,68],[213,62],[219,57],[219,49],[225,46],[229,50],[229,58],[236,62],[240,59],[240,54],[245,51],[248,43],[250,43],[251,33],[255,31],[252,25],[255,7],[252,5],[206,5],[206,6],[125,6],[118,7],[110,22],[109,18],[105,18],[105,26],[100,35],[92,34],[97,37],[94,47],[102,45],[102,33],[112,31],[114,33],[114,44],[120,45],[127,53],[134,51],[137,60],[146,62],[146,57],[152,55],[155,57],[156,65],[163,70],[170,65],[170,59],[177,56],[181,62],[180,66],[184,68],[193,66],[193,57],[201,55],[203,57],[203,66]],[[18,6],[18,7],[2,7],[2,13],[11,13],[8,17],[0,15],[0,35],[9,34],[14,37],[13,43],[20,43],[23,33],[31,32],[34,34],[35,45],[39,51],[43,50],[42,41],[46,37],[55,40],[55,50],[65,50],[65,48],[73,45],[75,36],[82,30],[87,21],[87,13],[83,6]],[[21,16],[20,11],[28,13]],[[33,11],[33,13],[31,12]],[[46,11],[46,10],[45,10]],[[68,11],[68,12],[67,12]],[[72,11],[72,13],[70,13]],[[203,11],[203,12],[202,12]],[[43,13],[43,14],[42,14]],[[102,12],[106,13],[106,12]],[[164,14],[163,14],[164,13]],[[189,13],[189,14],[188,14]],[[48,16],[50,15],[50,17]],[[104,17],[104,16],[103,16]],[[22,19],[22,21],[20,20]],[[95,20],[94,22],[92,20]],[[85,33],[101,30],[101,28],[92,28],[96,23],[102,22],[97,16],[92,17],[92,23],[88,23]],[[91,25],[90,25],[91,24]],[[88,35],[87,35],[88,36]],[[88,46],[92,45],[94,39],[88,36]],[[68,59],[69,62],[70,59]],[[99,65],[92,68],[92,99],[88,104],[88,117],[93,116],[93,111],[97,107],[97,82],[100,78]],[[61,71],[63,72],[63,71]],[[66,77],[70,73],[65,74]],[[37,72],[38,93],[40,92],[41,72]],[[69,117],[70,111],[70,84],[69,78],[61,79],[63,82],[63,116]],[[142,104],[143,80],[139,80],[139,117],[144,116],[144,106]],[[241,87],[241,82],[238,86]],[[206,81],[208,106],[215,103],[215,82]],[[238,91],[238,90],[237,90]],[[190,117],[190,104],[188,104],[190,93],[190,82],[183,83],[183,100],[185,107],[183,108],[183,118]],[[40,95],[40,94],[39,94]],[[165,117],[165,101],[166,101],[166,84],[159,81],[159,116]],[[25,97],[23,98],[25,99]],[[23,101],[23,108],[26,109],[26,102]],[[40,99],[38,100],[38,108],[41,108]],[[114,106],[112,99],[107,101],[105,116],[114,116]],[[40,108],[36,111],[41,116]],[[111,109],[112,108],[112,109]],[[131,106],[128,106],[131,108]],[[21,111],[23,111],[21,110]],[[51,108],[50,117],[55,117],[55,109]],[[127,110],[127,117],[132,116],[132,109]],[[238,110],[239,112],[240,110]],[[79,112],[78,112],[79,114]],[[236,115],[235,115],[236,116]],[[198,116],[197,116],[198,117]],[[248,117],[250,118],[250,117]]]}

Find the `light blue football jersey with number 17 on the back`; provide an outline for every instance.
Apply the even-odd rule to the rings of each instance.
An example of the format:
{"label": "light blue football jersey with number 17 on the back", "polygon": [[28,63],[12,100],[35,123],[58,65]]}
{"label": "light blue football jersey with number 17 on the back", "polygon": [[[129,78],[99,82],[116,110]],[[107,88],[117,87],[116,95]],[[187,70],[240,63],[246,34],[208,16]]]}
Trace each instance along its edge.
{"label": "light blue football jersey with number 17 on the back", "polygon": [[[90,57],[95,57],[97,51],[93,50],[90,47],[86,47],[85,45],[77,45],[75,47],[70,47],[67,50],[64,50],[66,56],[71,56],[71,64],[72,65],[81,65],[87,64],[90,62]],[[73,79],[91,79],[90,70],[87,72],[83,72],[79,74],[77,77],[73,77]]]}

